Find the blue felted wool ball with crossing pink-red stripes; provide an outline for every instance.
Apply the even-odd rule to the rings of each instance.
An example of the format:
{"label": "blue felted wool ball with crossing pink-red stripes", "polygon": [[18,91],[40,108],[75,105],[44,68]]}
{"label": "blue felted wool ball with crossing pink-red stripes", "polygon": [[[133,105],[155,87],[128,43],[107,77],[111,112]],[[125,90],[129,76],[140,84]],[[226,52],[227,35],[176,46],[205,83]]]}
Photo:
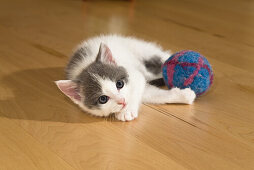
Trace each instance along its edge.
{"label": "blue felted wool ball with crossing pink-red stripes", "polygon": [[184,50],[173,54],[162,66],[168,88],[191,88],[197,96],[204,94],[213,83],[213,71],[201,54]]}

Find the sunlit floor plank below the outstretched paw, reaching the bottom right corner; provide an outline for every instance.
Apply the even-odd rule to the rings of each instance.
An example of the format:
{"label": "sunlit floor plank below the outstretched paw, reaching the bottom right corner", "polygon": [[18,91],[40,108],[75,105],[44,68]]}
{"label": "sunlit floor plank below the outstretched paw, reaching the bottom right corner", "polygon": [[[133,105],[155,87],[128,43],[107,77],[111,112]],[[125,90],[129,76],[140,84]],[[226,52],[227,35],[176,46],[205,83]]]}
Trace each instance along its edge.
{"label": "sunlit floor plank below the outstretched paw, reaching the bottom right corner", "polygon": [[[189,109],[187,113],[191,107],[185,106]],[[190,123],[174,114],[168,115],[167,111],[158,114],[145,106],[138,122],[117,126],[128,129],[129,134],[189,169],[251,169],[254,166],[254,148],[239,137],[216,127]]]}

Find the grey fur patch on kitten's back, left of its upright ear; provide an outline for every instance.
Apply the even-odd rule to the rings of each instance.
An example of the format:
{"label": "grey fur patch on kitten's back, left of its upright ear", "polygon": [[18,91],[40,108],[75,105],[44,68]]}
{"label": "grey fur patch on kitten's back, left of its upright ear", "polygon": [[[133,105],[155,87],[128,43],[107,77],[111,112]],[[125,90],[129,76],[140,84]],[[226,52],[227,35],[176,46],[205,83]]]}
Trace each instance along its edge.
{"label": "grey fur patch on kitten's back, left of its upright ear", "polygon": [[88,49],[86,47],[79,48],[77,51],[74,52],[65,70],[67,78],[70,78],[69,73],[77,65],[77,63],[81,62],[83,58],[87,56],[88,56]]}

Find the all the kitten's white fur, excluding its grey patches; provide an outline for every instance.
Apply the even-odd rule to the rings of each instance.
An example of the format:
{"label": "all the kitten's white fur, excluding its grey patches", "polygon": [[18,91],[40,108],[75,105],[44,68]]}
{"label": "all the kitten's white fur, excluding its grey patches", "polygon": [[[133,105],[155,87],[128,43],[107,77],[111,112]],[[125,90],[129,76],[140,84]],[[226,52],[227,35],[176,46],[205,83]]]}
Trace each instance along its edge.
{"label": "all the kitten's white fur, excluding its grey patches", "polygon": [[[96,116],[108,116],[110,113],[114,112],[116,113],[117,119],[130,121],[138,116],[138,109],[141,102],[154,104],[191,104],[194,101],[196,95],[190,89],[180,90],[174,88],[171,90],[163,90],[147,83],[148,81],[161,78],[162,75],[155,76],[147,71],[143,64],[143,60],[149,59],[149,57],[159,56],[164,62],[170,56],[170,52],[163,51],[162,48],[155,43],[138,40],[132,37],[103,35],[84,41],[78,48],[85,46],[89,49],[88,55],[92,57],[84,57],[84,59],[70,72],[71,80],[74,80],[84,68],[95,61],[101,43],[109,47],[116,64],[127,70],[129,82],[128,85],[125,85],[118,91],[115,87],[115,82],[98,78],[95,75],[102,86],[103,94],[110,96],[110,100],[106,104],[101,105],[100,110],[88,109],[82,101],[74,101],[83,110]],[[124,98],[127,103],[126,107],[123,109],[122,105],[117,104],[119,98]]]}

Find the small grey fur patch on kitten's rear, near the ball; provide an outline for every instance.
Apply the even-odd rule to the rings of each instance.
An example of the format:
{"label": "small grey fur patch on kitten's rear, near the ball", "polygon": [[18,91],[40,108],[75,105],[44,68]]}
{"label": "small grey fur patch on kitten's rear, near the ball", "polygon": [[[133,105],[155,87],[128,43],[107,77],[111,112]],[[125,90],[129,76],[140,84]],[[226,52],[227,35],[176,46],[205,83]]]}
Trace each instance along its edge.
{"label": "small grey fur patch on kitten's rear, near the ball", "polygon": [[145,67],[147,71],[157,75],[161,73],[161,66],[162,66],[162,61],[161,58],[158,56],[154,56],[150,58],[149,60],[144,60]]}

